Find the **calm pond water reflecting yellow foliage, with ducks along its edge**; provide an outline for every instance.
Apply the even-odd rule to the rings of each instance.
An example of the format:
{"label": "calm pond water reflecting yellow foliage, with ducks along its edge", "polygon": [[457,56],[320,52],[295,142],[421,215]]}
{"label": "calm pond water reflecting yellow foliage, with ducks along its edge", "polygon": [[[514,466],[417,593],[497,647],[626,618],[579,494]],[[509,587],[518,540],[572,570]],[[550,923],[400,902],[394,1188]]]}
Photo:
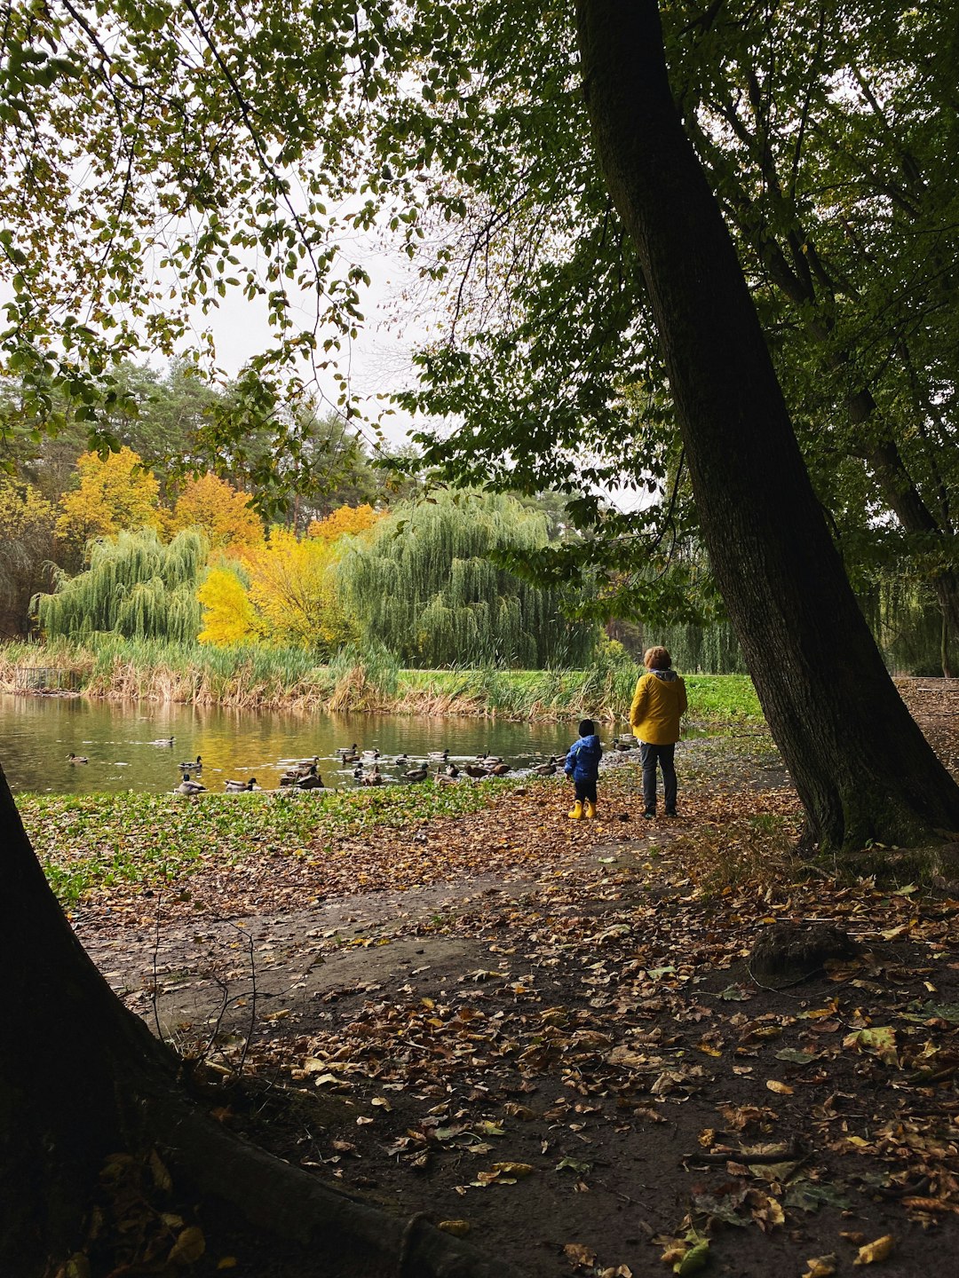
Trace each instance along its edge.
{"label": "calm pond water reflecting yellow foliage, with ducks along its edge", "polygon": [[[611,732],[604,731],[604,740]],[[51,794],[137,790],[162,792],[180,780],[178,764],[203,760],[208,790],[256,777],[272,789],[294,759],[320,757],[326,785],[354,785],[340,746],[381,751],[381,771],[398,780],[398,754],[422,760],[449,750],[456,763],[485,751],[514,768],[564,754],[577,723],[511,723],[485,718],[422,718],[402,714],[322,714],[230,711],[215,705],[102,702],[84,697],[0,695],[0,764],[10,789]],[[173,745],[161,744],[173,737]],[[68,754],[90,762],[72,764]],[[410,764],[413,766],[413,764]]]}

